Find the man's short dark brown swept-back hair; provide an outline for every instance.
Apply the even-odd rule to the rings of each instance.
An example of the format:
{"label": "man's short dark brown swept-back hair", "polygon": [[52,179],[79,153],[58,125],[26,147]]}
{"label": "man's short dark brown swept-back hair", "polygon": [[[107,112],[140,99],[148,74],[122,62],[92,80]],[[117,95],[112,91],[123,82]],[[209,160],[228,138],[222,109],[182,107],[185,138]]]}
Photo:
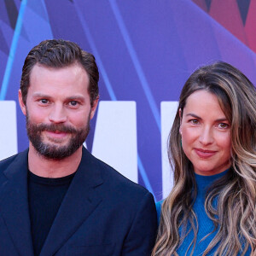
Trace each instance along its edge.
{"label": "man's short dark brown swept-back hair", "polygon": [[78,44],[62,39],[44,40],[31,49],[26,56],[20,80],[20,90],[24,104],[26,105],[30,74],[35,65],[40,64],[44,67],[60,68],[68,67],[74,63],[81,64],[88,74],[88,92],[90,94],[90,105],[92,106],[99,95],[99,72],[95,57],[81,49]]}

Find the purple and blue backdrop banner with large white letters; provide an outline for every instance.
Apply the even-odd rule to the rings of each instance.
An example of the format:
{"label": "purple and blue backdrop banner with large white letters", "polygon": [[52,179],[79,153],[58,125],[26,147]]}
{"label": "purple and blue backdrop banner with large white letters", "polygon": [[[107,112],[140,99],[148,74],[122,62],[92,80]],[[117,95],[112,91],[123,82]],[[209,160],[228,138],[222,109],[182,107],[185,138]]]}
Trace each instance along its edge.
{"label": "purple and blue backdrop banner with large white letters", "polygon": [[1,1],[0,160],[28,146],[18,103],[27,53],[63,38],[95,55],[100,71],[85,146],[159,201],[172,188],[167,137],[183,84],[218,60],[256,84],[255,29],[256,1]]}

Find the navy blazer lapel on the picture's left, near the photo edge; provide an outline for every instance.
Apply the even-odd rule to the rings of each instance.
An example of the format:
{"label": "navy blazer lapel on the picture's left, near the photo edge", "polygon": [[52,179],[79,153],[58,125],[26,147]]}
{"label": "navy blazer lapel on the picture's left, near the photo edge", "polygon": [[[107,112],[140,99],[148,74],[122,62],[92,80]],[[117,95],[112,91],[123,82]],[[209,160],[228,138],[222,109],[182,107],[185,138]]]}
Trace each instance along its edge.
{"label": "navy blazer lapel on the picture's left, near the photo edge", "polygon": [[[27,152],[18,154],[5,172],[1,188],[0,211],[20,255],[33,255],[27,202]],[[1,253],[0,253],[1,254]]]}

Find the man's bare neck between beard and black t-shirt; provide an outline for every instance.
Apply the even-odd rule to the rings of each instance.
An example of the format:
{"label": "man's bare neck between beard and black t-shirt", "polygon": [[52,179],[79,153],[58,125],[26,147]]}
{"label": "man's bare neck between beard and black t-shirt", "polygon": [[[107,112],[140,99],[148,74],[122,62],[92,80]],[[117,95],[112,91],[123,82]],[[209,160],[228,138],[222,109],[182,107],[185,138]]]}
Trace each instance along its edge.
{"label": "man's bare neck between beard and black t-shirt", "polygon": [[30,143],[28,151],[28,169],[40,177],[65,177],[76,172],[82,158],[82,147],[62,160],[50,160]]}

